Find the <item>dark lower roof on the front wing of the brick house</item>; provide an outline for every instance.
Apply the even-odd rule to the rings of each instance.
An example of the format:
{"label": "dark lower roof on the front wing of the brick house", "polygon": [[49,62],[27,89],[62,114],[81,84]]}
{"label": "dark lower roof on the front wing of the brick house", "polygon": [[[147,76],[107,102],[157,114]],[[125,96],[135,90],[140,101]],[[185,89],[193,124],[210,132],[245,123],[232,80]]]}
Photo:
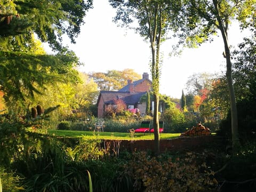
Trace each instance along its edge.
{"label": "dark lower roof on the front wing of the brick house", "polygon": [[126,105],[134,105],[135,103],[139,103],[142,95],[146,93],[147,92],[130,93],[124,91],[100,91],[99,99],[101,97],[106,104],[113,104],[115,99],[122,99]]}

